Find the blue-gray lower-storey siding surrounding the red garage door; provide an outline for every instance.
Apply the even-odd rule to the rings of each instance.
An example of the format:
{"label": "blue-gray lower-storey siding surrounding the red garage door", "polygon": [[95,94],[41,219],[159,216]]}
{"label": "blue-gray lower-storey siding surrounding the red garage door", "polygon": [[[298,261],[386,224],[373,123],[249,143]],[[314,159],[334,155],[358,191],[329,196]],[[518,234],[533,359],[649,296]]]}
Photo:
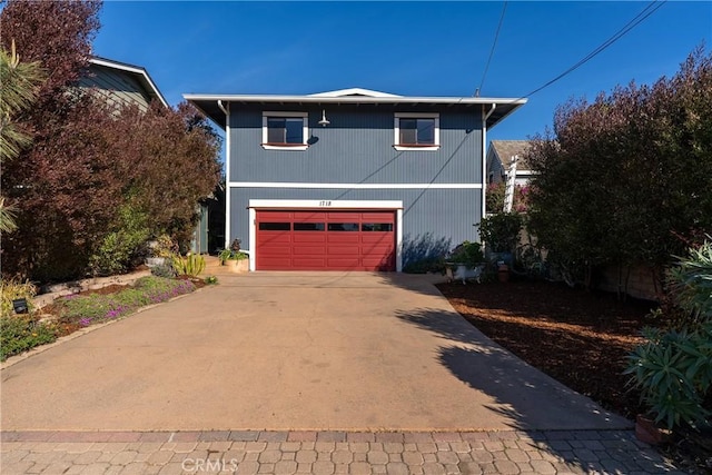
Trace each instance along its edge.
{"label": "blue-gray lower-storey siding surrounding the red garage door", "polygon": [[244,248],[249,244],[250,199],[315,200],[403,200],[404,265],[427,245],[452,249],[463,240],[476,241],[481,217],[479,189],[299,189],[299,188],[231,188],[230,236],[239,238]]}

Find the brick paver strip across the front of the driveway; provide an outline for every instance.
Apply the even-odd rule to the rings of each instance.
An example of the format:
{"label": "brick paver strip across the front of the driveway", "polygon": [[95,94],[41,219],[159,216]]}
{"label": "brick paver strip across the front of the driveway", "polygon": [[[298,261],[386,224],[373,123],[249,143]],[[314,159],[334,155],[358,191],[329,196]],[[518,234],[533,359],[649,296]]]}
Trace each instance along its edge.
{"label": "brick paver strip across the front of the driveway", "polygon": [[682,474],[631,431],[0,433],[3,474]]}

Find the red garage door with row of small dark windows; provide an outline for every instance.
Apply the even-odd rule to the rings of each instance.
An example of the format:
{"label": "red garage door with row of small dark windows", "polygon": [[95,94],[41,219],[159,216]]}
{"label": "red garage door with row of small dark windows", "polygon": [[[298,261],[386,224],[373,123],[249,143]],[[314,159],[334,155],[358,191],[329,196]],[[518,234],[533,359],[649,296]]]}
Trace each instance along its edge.
{"label": "red garage door with row of small dark windows", "polygon": [[257,211],[257,270],[395,270],[395,211]]}

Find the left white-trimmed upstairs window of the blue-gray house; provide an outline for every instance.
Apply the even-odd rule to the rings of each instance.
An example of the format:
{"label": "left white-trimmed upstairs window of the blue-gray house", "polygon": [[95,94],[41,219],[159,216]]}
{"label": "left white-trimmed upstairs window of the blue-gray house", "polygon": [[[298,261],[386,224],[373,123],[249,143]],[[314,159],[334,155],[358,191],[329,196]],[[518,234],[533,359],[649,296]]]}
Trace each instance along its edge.
{"label": "left white-trimmed upstairs window of the blue-gray house", "polygon": [[265,150],[306,150],[307,112],[263,112],[263,148]]}

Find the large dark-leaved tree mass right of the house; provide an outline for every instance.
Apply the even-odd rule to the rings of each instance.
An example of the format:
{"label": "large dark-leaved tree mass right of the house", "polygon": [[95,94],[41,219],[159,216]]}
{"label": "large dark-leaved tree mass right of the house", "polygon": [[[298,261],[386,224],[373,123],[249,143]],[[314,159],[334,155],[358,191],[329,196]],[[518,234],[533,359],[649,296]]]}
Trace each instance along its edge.
{"label": "large dark-leaved tree mass right of the house", "polygon": [[532,140],[530,228],[592,284],[599,267],[662,269],[712,229],[712,56],[671,79],[570,101]]}

